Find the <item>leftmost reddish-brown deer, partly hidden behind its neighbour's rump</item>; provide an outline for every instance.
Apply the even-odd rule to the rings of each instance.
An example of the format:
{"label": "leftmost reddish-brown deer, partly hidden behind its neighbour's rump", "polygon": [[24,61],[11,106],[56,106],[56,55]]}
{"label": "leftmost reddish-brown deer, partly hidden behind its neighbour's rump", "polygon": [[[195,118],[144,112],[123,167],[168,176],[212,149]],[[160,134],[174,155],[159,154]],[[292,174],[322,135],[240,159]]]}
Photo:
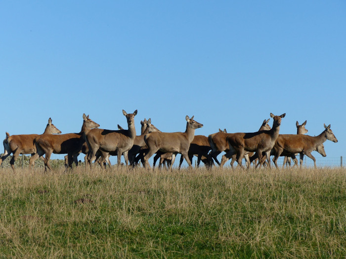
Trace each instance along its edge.
{"label": "leftmost reddish-brown deer, partly hidden behind its neighbour's rump", "polygon": [[[54,124],[52,124],[52,120],[51,118],[49,118],[48,124],[45,127],[43,134],[60,134],[60,133],[61,131],[58,130],[54,126]],[[7,158],[7,156],[13,153],[13,156],[9,163],[13,169],[13,172],[15,172],[14,162],[17,160],[19,154],[31,154],[33,156],[37,152],[36,146],[34,144],[34,140],[39,136],[40,136],[39,134],[10,136],[6,132],[6,139],[3,140],[3,148],[5,150],[3,155],[1,156],[0,165],[2,161]]]}

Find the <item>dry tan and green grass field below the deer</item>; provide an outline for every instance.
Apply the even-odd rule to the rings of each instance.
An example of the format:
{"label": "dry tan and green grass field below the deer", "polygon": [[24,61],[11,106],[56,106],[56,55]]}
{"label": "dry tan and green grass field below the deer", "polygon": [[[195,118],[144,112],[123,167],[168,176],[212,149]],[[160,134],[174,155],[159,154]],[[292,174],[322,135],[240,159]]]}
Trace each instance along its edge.
{"label": "dry tan and green grass field below the deer", "polygon": [[0,170],[0,258],[346,258],[346,170]]}

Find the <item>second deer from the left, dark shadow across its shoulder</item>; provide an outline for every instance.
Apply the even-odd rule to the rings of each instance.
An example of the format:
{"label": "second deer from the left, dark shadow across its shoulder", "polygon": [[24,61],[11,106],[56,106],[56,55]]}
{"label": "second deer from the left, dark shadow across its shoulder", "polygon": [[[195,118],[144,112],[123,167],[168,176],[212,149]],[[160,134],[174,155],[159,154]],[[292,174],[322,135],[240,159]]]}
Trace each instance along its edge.
{"label": "second deer from the left, dark shadow across its shoulder", "polygon": [[83,114],[83,125],[80,133],[68,133],[62,135],[41,135],[35,139],[37,153],[30,158],[29,166],[33,165],[35,160],[45,154],[44,165],[51,170],[49,159],[52,153],[68,155],[69,167],[72,167],[73,156],[81,151],[85,143],[84,134],[91,128],[97,128],[100,125],[89,119],[89,115]]}

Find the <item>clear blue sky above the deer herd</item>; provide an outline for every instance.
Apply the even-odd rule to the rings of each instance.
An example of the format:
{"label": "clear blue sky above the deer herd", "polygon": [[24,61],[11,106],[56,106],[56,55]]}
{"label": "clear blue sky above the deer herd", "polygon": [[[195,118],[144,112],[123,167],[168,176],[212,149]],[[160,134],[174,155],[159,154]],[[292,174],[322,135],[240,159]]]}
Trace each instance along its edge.
{"label": "clear blue sky above the deer herd", "polygon": [[195,115],[206,136],[286,112],[280,133],[331,124],[327,156],[346,155],[344,0],[3,1],[0,34],[3,138],[49,117],[79,132],[83,113],[126,127],[123,109],[137,133],[144,117],[174,132]]}

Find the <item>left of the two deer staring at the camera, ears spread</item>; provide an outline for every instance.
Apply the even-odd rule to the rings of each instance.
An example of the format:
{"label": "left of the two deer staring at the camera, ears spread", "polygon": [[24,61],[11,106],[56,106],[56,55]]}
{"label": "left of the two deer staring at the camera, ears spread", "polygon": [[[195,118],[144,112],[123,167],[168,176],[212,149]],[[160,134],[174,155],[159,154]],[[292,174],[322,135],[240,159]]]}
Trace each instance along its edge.
{"label": "left of the two deer staring at the camera, ears spread", "polygon": [[101,163],[103,163],[110,152],[116,152],[118,156],[118,166],[121,164],[122,153],[124,153],[126,165],[128,164],[129,159],[127,151],[132,148],[134,138],[136,137],[134,116],[137,114],[137,110],[129,114],[123,110],[123,114],[126,116],[128,122],[128,130],[92,129],[85,135],[89,148],[87,161],[90,166],[92,161],[95,160],[95,154],[99,149],[102,154]]}

